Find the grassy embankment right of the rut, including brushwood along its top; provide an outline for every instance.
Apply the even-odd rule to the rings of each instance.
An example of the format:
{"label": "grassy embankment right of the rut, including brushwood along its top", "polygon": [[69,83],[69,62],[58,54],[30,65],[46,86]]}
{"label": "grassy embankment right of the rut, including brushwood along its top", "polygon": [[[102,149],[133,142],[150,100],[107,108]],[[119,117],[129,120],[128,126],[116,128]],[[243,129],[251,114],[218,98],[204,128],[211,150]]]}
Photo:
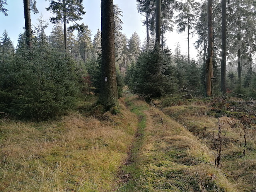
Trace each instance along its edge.
{"label": "grassy embankment right of the rut, including brushwood along its top", "polygon": [[[183,124],[196,136],[198,141],[209,149],[211,156],[215,156],[216,153],[214,137],[216,139],[220,127],[222,144],[220,170],[226,178],[236,184],[238,190],[244,192],[256,190],[256,124],[255,116],[248,115],[250,106],[248,108],[243,103],[218,100],[179,100],[177,103],[176,99],[164,98],[156,102],[165,114]],[[243,105],[245,112],[242,112]]]}

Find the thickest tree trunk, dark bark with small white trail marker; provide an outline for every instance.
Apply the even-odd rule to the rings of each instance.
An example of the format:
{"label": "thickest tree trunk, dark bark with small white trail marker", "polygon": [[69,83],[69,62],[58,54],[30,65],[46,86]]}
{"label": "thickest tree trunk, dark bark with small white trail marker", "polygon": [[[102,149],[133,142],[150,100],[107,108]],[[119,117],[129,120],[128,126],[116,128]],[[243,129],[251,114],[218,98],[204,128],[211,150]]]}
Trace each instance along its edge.
{"label": "thickest tree trunk, dark bark with small white trail marker", "polygon": [[102,84],[99,102],[110,110],[118,106],[113,0],[101,0]]}

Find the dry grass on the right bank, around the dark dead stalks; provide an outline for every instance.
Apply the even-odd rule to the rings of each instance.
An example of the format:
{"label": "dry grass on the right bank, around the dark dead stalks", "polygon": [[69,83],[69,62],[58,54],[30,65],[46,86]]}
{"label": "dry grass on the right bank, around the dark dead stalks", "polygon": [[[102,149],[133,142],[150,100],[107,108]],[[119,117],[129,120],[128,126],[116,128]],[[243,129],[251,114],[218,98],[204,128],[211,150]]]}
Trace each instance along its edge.
{"label": "dry grass on the right bank, around the dark dead stalks", "polygon": [[[218,126],[222,130],[222,170],[229,180],[236,183],[240,191],[256,190],[254,159],[256,156],[256,131],[246,129],[246,156],[243,156],[244,126],[235,117],[214,118],[204,114],[207,106],[172,106],[164,108],[164,113],[178,120],[182,125],[205,144],[214,155],[213,134],[217,136]],[[212,152],[211,152],[212,150]],[[197,151],[197,150],[196,150]],[[247,169],[248,165],[251,167]]]}

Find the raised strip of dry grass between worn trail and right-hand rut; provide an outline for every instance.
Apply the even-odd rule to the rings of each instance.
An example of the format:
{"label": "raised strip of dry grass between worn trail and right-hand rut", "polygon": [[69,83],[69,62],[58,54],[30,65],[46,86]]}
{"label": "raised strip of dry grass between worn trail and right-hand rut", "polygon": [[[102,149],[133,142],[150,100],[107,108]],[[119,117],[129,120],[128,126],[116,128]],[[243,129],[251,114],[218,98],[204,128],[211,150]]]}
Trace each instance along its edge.
{"label": "raised strip of dry grass between worn trail and right-hand rut", "polygon": [[140,174],[134,178],[134,188],[120,191],[238,192],[210,164],[210,150],[184,126],[155,108],[143,112],[147,122],[138,161]]}

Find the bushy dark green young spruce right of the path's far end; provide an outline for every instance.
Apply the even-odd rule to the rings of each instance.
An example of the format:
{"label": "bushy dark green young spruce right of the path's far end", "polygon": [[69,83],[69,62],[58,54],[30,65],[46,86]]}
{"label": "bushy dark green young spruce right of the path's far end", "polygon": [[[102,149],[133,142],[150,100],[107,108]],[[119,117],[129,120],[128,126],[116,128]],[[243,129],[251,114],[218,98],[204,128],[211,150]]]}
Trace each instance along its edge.
{"label": "bushy dark green young spruce right of the path's far end", "polygon": [[169,52],[149,49],[141,54],[132,76],[132,90],[140,95],[162,96],[173,93],[177,80],[172,74]]}

